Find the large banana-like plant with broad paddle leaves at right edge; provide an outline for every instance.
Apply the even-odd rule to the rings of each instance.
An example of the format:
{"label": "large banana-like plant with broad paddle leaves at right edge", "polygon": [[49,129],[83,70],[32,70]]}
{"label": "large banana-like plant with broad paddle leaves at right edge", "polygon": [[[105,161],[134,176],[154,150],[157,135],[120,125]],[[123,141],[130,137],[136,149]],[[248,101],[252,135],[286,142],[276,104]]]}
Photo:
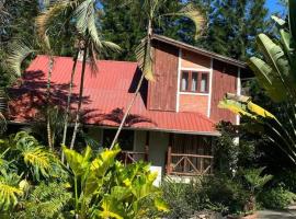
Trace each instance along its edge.
{"label": "large banana-like plant with broad paddle leaves at right edge", "polygon": [[219,106],[251,118],[259,130],[264,131],[271,142],[296,163],[295,1],[288,1],[288,22],[272,16],[277,25],[280,39],[272,41],[265,34],[260,34],[257,44],[264,60],[252,57],[249,64],[266,94],[278,104],[277,117],[252,103],[248,96],[227,94]]}

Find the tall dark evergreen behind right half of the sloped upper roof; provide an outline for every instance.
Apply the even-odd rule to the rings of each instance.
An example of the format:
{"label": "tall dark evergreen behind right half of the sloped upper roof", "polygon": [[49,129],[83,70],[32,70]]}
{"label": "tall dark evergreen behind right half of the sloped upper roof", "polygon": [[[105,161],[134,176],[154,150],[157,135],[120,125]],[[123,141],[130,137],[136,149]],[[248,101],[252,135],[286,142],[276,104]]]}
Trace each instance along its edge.
{"label": "tall dark evergreen behind right half of the sloped upper roof", "polygon": [[255,36],[265,31],[265,0],[215,0],[210,3],[206,37],[196,43],[239,60],[254,53]]}

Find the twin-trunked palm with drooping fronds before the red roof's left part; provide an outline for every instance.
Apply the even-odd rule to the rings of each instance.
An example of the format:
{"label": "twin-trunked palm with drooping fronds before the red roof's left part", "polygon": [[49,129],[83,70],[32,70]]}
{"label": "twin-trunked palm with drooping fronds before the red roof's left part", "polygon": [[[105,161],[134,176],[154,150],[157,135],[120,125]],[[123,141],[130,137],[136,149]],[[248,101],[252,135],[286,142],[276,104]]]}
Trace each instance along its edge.
{"label": "twin-trunked palm with drooping fronds before the red roof's left part", "polygon": [[[62,136],[62,145],[66,143],[67,138],[67,128],[68,128],[68,117],[70,112],[70,103],[72,95],[72,85],[73,85],[73,76],[76,72],[76,66],[78,61],[78,54],[81,51],[83,54],[82,59],[82,70],[80,78],[80,89],[79,89],[79,102],[77,107],[76,120],[75,120],[75,129],[71,139],[70,148],[73,148],[73,143],[76,140],[76,136],[80,125],[80,114],[82,107],[82,96],[83,96],[83,87],[84,87],[84,73],[87,61],[90,60],[90,65],[92,70],[96,71],[96,57],[104,49],[118,51],[119,47],[111,42],[102,41],[99,32],[96,30],[96,18],[95,10],[99,1],[95,0],[62,0],[54,3],[44,14],[38,18],[38,26],[39,26],[39,35],[44,36],[46,41],[46,33],[50,27],[55,18],[59,14],[65,13],[69,14],[72,22],[76,24],[76,28],[78,31],[79,37],[79,47],[76,51],[73,58],[73,67],[71,71],[71,79],[69,83],[69,94],[66,106],[66,116],[65,116],[65,125],[64,125],[64,136]],[[66,18],[69,20],[69,18]]]}

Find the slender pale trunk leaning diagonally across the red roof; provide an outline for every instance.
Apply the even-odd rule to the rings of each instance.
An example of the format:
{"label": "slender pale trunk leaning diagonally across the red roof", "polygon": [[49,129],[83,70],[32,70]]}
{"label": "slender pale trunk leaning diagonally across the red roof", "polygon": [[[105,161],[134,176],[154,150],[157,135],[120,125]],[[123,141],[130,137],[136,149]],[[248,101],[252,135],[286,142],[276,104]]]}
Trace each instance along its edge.
{"label": "slender pale trunk leaning diagonally across the red roof", "polygon": [[[148,27],[147,27],[147,41],[150,41],[151,39],[151,35],[152,35],[152,22],[151,22],[151,20],[149,20],[148,21]],[[145,61],[144,61],[143,69],[144,68],[145,68]],[[122,123],[121,123],[121,125],[119,125],[119,127],[118,127],[118,129],[116,131],[116,135],[115,135],[115,137],[114,137],[114,139],[113,139],[113,141],[111,143],[111,147],[110,147],[111,150],[114,148],[115,143],[117,142],[117,139],[119,137],[119,134],[121,134],[121,131],[122,131],[122,129],[124,127],[125,120],[126,120],[127,116],[129,115],[129,112],[130,112],[130,110],[132,110],[132,107],[133,107],[133,105],[134,105],[134,103],[135,103],[135,101],[136,101],[136,99],[137,99],[137,96],[139,94],[139,91],[140,91],[140,88],[141,88],[141,84],[143,84],[144,79],[145,79],[145,74],[143,73],[141,77],[140,77],[139,83],[137,85],[135,95],[133,96],[129,105],[127,106],[127,110],[126,110],[126,112],[124,114],[124,117],[122,119]]]}

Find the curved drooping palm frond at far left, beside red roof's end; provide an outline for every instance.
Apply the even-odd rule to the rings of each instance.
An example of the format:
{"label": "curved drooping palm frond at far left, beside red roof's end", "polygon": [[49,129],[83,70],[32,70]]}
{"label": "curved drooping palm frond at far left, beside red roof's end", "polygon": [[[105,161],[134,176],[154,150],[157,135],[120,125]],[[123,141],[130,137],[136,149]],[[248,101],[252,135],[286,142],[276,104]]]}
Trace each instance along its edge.
{"label": "curved drooping palm frond at far left, beside red roof's end", "polygon": [[12,73],[16,77],[20,77],[22,73],[21,66],[24,59],[34,53],[35,50],[30,48],[23,42],[15,42],[10,46],[10,54],[7,59],[8,68],[12,71]]}

